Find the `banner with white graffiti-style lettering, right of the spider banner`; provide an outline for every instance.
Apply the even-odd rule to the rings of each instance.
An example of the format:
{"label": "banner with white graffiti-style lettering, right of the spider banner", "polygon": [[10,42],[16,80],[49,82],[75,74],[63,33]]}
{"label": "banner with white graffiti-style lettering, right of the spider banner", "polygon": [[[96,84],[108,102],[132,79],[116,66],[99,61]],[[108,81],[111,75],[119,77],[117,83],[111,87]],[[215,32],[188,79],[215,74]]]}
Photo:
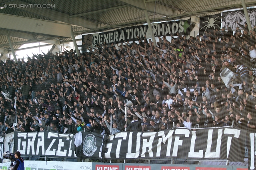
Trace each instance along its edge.
{"label": "banner with white graffiti-style lettering, right of the spider banner", "polygon": [[[250,8],[247,9],[247,11],[252,27],[256,26],[256,8]],[[236,30],[236,27],[239,27],[236,21],[244,26],[244,24],[246,23],[244,10],[222,12],[222,27],[225,27],[226,29],[228,29],[228,27],[231,27],[234,31]]]}

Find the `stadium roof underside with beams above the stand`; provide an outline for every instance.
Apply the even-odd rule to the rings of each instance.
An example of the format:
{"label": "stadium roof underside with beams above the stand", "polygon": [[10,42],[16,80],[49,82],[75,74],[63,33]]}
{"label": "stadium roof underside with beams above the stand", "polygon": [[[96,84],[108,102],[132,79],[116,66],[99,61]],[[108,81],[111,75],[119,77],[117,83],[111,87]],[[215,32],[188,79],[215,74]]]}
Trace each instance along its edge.
{"label": "stadium roof underside with beams above the stand", "polygon": [[[256,6],[255,0],[245,2],[247,7]],[[38,8],[40,6],[50,8]],[[0,7],[5,7],[0,9],[0,53],[6,53],[10,52],[7,35],[14,49],[33,42],[60,44],[72,40],[70,33],[65,34],[71,26],[74,34],[80,35],[140,25],[146,23],[145,10],[151,22],[194,16],[192,22],[199,23],[199,16],[242,8],[242,1],[0,0]]]}

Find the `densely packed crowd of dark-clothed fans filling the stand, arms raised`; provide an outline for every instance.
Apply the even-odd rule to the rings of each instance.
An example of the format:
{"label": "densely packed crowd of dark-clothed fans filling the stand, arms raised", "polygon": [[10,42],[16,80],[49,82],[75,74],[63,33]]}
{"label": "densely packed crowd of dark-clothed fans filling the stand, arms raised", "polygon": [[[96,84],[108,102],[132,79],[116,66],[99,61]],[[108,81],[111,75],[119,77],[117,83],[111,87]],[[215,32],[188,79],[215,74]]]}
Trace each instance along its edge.
{"label": "densely packed crowd of dark-clothed fans filling the stand, arms raised", "polygon": [[[242,26],[242,25],[241,25]],[[255,130],[256,33],[222,28],[196,37],[138,38],[121,45],[81,45],[0,63],[0,133],[110,133],[175,127]],[[135,41],[138,41],[136,43]],[[80,51],[79,51],[80,52]],[[220,72],[236,75],[226,87]],[[236,86],[235,84],[241,84]],[[16,103],[14,100],[16,97]],[[132,106],[124,114],[124,104]],[[15,114],[17,113],[17,114]],[[17,125],[14,126],[13,123]]]}

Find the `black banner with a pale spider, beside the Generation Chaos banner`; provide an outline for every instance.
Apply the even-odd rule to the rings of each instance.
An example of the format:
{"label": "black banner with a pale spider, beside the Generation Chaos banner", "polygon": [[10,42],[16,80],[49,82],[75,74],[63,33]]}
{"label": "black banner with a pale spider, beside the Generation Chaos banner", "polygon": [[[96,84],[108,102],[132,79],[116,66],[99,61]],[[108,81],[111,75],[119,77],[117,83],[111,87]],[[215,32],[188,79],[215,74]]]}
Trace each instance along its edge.
{"label": "black banner with a pale spider, beside the Generation Chaos banner", "polygon": [[214,29],[220,30],[221,13],[211,16],[200,17],[199,35],[204,35],[205,32],[213,32]]}

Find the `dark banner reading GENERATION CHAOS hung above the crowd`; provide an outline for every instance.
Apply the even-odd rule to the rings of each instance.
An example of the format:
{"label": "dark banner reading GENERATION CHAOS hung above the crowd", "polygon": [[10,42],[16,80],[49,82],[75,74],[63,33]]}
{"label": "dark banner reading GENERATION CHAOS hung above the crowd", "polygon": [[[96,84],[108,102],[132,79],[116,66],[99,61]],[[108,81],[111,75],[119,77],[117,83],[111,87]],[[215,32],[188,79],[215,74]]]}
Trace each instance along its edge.
{"label": "dark banner reading GENERATION CHAOS hung above the crowd", "polygon": [[[189,20],[179,20],[179,21],[168,21],[162,23],[152,23],[152,31],[155,37],[161,37],[163,35],[166,36],[176,36],[177,33],[180,35],[189,35],[187,30],[190,27],[191,18]],[[127,41],[136,41],[137,36],[141,39],[144,38],[152,38],[150,31],[148,29],[148,25],[139,25],[133,27],[126,27],[122,29],[117,29],[115,31],[107,31],[103,33],[94,33],[82,36],[82,41],[88,46],[96,46],[100,44],[110,45],[112,43],[124,43]]]}

